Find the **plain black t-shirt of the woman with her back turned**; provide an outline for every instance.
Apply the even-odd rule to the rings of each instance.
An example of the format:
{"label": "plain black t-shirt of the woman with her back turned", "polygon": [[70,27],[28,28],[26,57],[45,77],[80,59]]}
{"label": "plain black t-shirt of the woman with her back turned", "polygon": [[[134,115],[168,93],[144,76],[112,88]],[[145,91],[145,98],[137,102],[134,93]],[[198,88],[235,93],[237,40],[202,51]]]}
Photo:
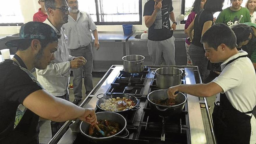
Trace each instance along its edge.
{"label": "plain black t-shirt of the woman with her back turned", "polygon": [[192,44],[198,47],[204,47],[200,42],[202,37],[202,30],[205,22],[212,21],[213,25],[213,14],[207,10],[203,10],[200,14],[196,15],[194,20],[194,38]]}

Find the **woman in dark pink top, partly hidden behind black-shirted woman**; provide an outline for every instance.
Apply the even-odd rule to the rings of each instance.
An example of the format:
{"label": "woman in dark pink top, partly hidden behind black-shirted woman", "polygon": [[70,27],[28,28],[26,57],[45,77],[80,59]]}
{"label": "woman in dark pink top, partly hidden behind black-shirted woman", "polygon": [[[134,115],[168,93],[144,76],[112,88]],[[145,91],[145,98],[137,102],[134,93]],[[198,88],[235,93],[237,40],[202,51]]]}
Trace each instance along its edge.
{"label": "woman in dark pink top, partly hidden behind black-shirted woman", "polygon": [[[186,20],[185,29],[184,29],[185,34],[188,33],[187,28],[189,27],[191,22],[195,19],[195,16],[198,13],[200,13],[201,10],[204,9],[205,2],[206,2],[206,0],[195,0],[195,2],[193,3],[193,6],[192,6],[193,9],[192,9],[191,13],[189,14],[188,19]],[[185,47],[186,47],[186,52],[187,52],[187,65],[193,65],[191,58],[189,56],[189,45],[191,45],[191,42],[188,37],[185,42]]]}

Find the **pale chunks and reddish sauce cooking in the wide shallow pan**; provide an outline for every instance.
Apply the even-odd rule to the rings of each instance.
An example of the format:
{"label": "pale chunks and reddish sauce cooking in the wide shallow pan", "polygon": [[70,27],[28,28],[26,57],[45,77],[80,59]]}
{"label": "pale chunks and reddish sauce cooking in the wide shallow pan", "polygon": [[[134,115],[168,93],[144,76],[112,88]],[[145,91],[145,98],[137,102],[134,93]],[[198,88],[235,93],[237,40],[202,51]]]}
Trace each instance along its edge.
{"label": "pale chunks and reddish sauce cooking in the wide shallow pan", "polygon": [[103,103],[99,106],[106,111],[125,111],[134,108],[136,104],[133,100],[127,99],[126,97],[116,97],[103,99]]}

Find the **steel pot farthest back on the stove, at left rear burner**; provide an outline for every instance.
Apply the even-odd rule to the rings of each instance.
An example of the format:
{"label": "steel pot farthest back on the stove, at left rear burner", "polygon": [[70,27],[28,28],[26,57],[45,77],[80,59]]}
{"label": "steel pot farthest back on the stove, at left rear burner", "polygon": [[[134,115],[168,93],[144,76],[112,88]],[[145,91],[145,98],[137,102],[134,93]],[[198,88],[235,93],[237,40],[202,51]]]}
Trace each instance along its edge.
{"label": "steel pot farthest back on the stove, at left rear burner", "polygon": [[122,57],[124,71],[128,73],[139,73],[144,70],[144,56],[141,55],[127,55]]}

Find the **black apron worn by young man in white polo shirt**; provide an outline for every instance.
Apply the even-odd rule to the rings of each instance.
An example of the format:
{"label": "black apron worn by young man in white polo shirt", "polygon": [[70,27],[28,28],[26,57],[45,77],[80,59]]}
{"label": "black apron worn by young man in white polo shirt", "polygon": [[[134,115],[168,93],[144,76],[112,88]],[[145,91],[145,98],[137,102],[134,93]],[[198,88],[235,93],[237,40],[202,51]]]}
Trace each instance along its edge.
{"label": "black apron worn by young man in white polo shirt", "polygon": [[[238,58],[229,61],[226,66]],[[242,113],[235,109],[227,99],[225,93],[221,93],[220,105],[214,103],[212,113],[214,132],[218,144],[249,144],[251,136],[251,116],[248,111]]]}

